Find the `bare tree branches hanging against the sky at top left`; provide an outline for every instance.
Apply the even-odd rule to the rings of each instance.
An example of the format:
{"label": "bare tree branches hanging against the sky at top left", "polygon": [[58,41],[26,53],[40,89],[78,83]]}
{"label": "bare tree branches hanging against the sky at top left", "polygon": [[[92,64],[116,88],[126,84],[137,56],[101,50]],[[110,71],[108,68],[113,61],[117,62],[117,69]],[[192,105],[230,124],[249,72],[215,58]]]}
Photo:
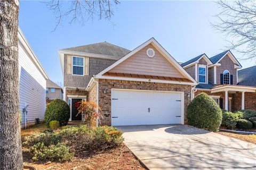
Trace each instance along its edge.
{"label": "bare tree branches hanging against the sky at top left", "polygon": [[56,15],[56,26],[53,30],[55,31],[64,18],[70,20],[69,24],[76,21],[84,23],[90,19],[93,21],[95,15],[99,20],[110,21],[114,16],[113,7],[120,2],[118,0],[51,0],[44,3]]}

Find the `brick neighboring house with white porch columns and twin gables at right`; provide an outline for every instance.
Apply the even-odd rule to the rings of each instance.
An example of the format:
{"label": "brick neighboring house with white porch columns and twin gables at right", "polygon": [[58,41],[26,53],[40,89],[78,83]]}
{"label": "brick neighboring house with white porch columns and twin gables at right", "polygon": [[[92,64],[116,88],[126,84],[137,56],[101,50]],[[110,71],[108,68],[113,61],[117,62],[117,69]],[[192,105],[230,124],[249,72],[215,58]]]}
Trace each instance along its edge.
{"label": "brick neighboring house with white porch columns and twin gables at right", "polygon": [[202,54],[181,65],[198,82],[193,97],[205,92],[227,111],[256,109],[254,67],[238,71],[242,65],[230,50],[211,58]]}

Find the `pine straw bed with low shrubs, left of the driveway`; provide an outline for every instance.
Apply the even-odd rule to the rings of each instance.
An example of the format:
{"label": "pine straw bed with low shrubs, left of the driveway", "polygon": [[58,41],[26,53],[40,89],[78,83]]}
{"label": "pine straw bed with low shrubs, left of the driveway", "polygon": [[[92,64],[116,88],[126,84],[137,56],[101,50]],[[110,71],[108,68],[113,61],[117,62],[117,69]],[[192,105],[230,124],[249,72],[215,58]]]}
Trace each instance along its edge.
{"label": "pine straw bed with low shrubs, left of the driveway", "polygon": [[145,169],[122,141],[111,127],[45,130],[22,137],[23,161],[25,169]]}

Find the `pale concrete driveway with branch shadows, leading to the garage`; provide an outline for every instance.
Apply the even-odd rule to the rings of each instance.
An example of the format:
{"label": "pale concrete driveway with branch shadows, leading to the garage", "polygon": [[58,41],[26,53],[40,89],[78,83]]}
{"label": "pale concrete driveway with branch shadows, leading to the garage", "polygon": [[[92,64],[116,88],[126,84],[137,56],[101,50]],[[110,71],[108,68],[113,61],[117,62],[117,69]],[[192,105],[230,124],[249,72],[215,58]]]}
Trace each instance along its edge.
{"label": "pale concrete driveway with branch shadows, leading to the garage", "polygon": [[188,125],[119,126],[149,169],[256,169],[256,145]]}

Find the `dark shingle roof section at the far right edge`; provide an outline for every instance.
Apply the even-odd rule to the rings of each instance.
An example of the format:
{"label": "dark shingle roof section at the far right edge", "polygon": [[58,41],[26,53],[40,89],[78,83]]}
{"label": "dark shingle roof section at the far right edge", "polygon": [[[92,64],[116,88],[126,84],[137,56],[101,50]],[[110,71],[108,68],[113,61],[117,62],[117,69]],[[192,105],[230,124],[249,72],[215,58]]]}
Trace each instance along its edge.
{"label": "dark shingle roof section at the far right edge", "polygon": [[256,86],[256,66],[247,69],[239,70],[238,72],[238,85],[242,86]]}

